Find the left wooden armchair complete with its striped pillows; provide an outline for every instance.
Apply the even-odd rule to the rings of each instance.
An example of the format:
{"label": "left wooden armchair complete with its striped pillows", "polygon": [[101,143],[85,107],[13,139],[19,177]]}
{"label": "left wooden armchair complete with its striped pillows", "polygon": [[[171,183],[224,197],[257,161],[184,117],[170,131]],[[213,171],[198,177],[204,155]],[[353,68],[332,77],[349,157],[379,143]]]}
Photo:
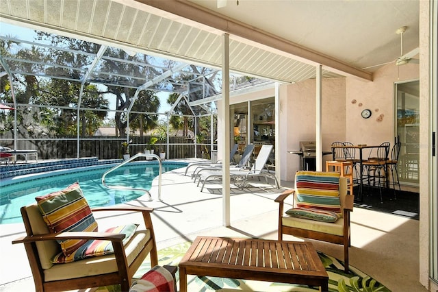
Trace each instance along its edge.
{"label": "left wooden armchair complete with its striped pillows", "polygon": [[[27,236],[12,243],[24,243],[36,291],[66,291],[113,284],[120,284],[121,291],[129,291],[133,274],[148,254],[151,255],[151,267],[158,264],[151,220],[153,209],[111,206],[90,211],[76,184],[38,197],[38,204],[22,207]],[[111,231],[94,232],[97,223],[92,213],[96,211],[137,212],[144,224],[127,224],[109,229]],[[77,228],[84,225],[86,228]],[[68,231],[57,232],[60,226],[67,226],[63,230]],[[90,252],[96,254],[90,255]]]}

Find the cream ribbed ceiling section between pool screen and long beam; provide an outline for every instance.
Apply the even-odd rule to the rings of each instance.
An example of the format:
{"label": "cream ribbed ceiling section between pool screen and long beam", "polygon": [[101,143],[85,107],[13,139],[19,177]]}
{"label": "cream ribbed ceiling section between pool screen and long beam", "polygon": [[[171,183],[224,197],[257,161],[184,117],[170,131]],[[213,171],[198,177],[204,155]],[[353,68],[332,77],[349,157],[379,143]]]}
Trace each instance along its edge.
{"label": "cream ribbed ceiling section between pool screen and long beam", "polygon": [[[103,36],[170,55],[187,56],[201,63],[220,66],[222,62],[222,36],[162,19],[111,0],[1,0],[0,3],[3,14],[28,19],[29,12],[31,21],[61,25],[64,29]],[[61,14],[63,19],[60,19]],[[285,82],[315,77],[313,65],[233,39],[230,40],[230,68]],[[329,71],[323,73],[324,77],[340,76]]]}

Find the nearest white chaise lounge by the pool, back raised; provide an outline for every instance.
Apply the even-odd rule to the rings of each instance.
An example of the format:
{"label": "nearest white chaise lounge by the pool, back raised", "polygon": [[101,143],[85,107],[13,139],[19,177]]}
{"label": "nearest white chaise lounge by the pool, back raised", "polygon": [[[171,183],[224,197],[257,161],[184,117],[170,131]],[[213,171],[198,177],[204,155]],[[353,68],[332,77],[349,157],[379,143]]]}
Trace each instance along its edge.
{"label": "nearest white chaise lounge by the pool, back raised", "polygon": [[[270,173],[266,167],[266,162],[268,162],[268,158],[271,154],[273,146],[272,145],[262,145],[261,149],[259,151],[259,155],[257,155],[257,158],[255,159],[255,162],[253,164],[253,167],[251,167],[250,170],[246,169],[246,167],[242,167],[239,170],[230,170],[230,178],[231,180],[239,180],[243,179],[244,182],[242,184],[241,188],[244,188],[246,181],[248,180],[248,177],[263,177],[266,179],[266,183],[268,183],[268,178],[272,178],[275,181],[276,188],[280,188],[280,184],[278,180],[276,179],[276,176],[272,173]],[[246,170],[245,170],[246,169]],[[204,189],[205,182],[207,180],[211,179],[222,179],[222,169],[220,170],[208,170],[203,171],[199,175],[198,180],[198,186],[201,181],[203,181],[203,185],[201,186],[201,192]]]}

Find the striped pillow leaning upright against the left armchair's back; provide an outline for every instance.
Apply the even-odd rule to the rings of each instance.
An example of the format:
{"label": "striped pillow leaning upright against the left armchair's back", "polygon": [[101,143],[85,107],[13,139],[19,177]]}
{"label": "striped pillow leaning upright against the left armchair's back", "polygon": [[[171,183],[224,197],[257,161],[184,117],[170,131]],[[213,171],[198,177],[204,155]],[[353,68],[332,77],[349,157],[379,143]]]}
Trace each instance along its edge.
{"label": "striped pillow leaning upright against the left armchair's back", "polygon": [[[42,218],[53,233],[67,231],[97,231],[97,222],[88,202],[83,197],[78,182],[62,191],[36,197]],[[87,241],[81,239],[60,240],[62,252],[69,256]]]}

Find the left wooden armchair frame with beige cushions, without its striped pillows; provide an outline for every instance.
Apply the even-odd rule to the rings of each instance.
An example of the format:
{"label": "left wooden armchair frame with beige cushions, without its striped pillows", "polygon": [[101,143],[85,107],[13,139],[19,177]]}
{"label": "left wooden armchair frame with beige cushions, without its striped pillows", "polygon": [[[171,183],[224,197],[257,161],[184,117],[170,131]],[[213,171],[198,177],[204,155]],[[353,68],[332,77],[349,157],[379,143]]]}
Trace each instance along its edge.
{"label": "left wooden armchair frame with beige cushions, without its striped pillows", "polygon": [[[70,187],[57,193],[64,195],[64,197],[70,195],[68,193]],[[77,191],[77,188],[75,188],[75,191]],[[157,246],[151,221],[152,208],[133,206],[127,208],[123,206],[88,208],[88,210],[92,210],[92,213],[98,211],[123,211],[138,212],[138,215],[142,215],[144,226],[142,224],[135,224],[138,227],[129,234],[129,241],[127,242],[124,242],[127,235],[123,232],[67,231],[54,233],[53,228],[49,228],[46,221],[52,220],[49,217],[50,215],[48,215],[49,213],[42,215],[41,208],[38,204],[21,208],[27,236],[12,241],[12,243],[24,243],[25,245],[36,291],[66,291],[113,284],[120,284],[122,291],[129,291],[131,279],[146,256],[149,254],[151,256],[151,267],[158,264]],[[65,214],[70,212],[68,211],[69,208],[64,208],[66,210]],[[64,215],[58,214],[58,216]],[[68,263],[53,263],[56,256],[62,258],[62,253],[64,252],[62,249],[64,247],[68,248],[66,247],[68,241],[76,243],[81,240],[86,243],[90,243],[93,240],[101,240],[99,243],[110,241],[111,243],[105,242],[105,244],[108,243],[107,246],[112,245],[114,253],[86,257]],[[60,241],[64,243],[64,247],[61,247]],[[93,243],[96,243],[96,241]],[[76,254],[81,253],[77,252]]]}

